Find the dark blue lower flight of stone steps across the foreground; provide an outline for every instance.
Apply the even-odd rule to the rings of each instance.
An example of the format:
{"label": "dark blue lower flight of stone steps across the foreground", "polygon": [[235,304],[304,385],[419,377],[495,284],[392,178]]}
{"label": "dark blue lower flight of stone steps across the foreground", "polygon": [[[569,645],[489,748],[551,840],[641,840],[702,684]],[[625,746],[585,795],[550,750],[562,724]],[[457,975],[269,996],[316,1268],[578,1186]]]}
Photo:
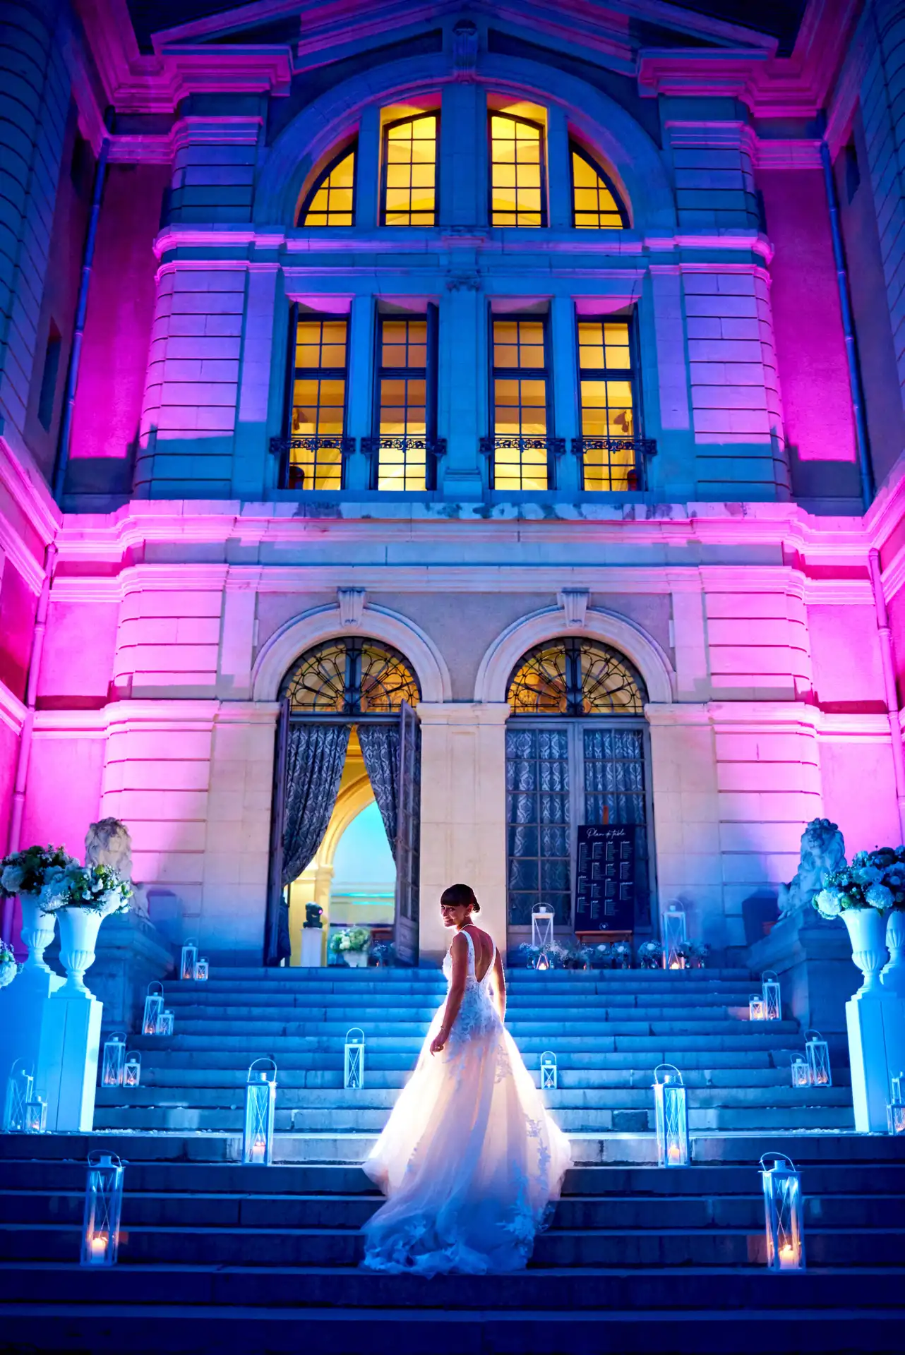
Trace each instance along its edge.
{"label": "dark blue lower flight of stone steps across the foreground", "polygon": [[[341,1140],[280,1138],[314,1156]],[[835,1133],[698,1134],[658,1169],[645,1135],[576,1138],[527,1271],[371,1275],[378,1199],[348,1163],[240,1167],[221,1133],[0,1135],[0,1351],[245,1355],[901,1350],[905,1144]],[[119,1264],[75,1264],[84,1160],[129,1160]],[[788,1152],[807,1270],[764,1267],[756,1164]],[[230,1161],[232,1159],[232,1161]],[[608,1165],[593,1165],[607,1159]]]}

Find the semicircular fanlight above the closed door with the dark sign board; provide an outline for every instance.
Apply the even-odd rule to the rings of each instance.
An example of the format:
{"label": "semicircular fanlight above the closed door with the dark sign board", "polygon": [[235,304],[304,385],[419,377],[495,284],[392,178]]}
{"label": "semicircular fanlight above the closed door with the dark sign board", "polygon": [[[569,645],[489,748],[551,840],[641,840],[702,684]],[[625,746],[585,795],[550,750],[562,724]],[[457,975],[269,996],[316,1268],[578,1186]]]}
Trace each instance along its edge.
{"label": "semicircular fanlight above the closed door with the dark sign board", "polygon": [[530,649],[507,687],[513,715],[642,715],[644,679],[625,654],[568,635]]}

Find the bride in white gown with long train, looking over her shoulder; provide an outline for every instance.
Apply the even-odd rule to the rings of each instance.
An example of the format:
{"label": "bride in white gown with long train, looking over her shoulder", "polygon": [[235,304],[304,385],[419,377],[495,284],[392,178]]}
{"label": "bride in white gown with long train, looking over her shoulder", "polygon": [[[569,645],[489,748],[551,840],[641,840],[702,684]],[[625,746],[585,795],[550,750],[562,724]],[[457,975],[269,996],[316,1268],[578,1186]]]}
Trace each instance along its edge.
{"label": "bride in white gown with long train, looking over her shoulder", "polygon": [[503,962],[474,925],[478,911],[467,885],[440,898],[455,931],[446,1003],[364,1163],[386,1195],[364,1225],[371,1270],[520,1270],[570,1165],[569,1141],[503,1026]]}

